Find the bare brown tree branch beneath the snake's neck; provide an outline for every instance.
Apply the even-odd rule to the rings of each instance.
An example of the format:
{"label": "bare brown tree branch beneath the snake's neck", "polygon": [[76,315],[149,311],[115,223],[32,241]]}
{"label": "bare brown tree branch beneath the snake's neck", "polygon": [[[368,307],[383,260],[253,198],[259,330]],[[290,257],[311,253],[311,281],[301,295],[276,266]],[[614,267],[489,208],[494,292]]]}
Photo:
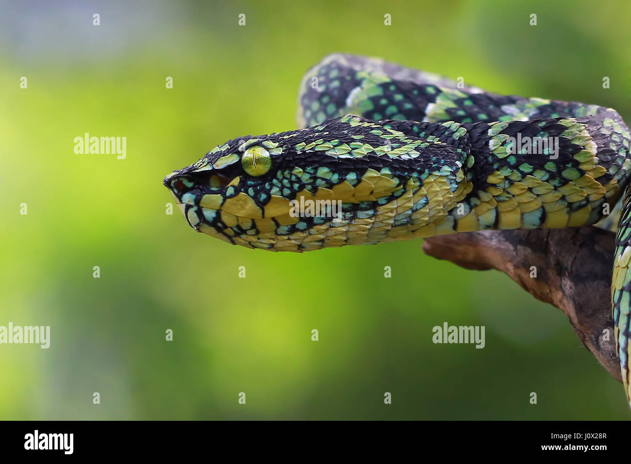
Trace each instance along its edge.
{"label": "bare brown tree branch beneath the snake's neck", "polygon": [[[614,241],[613,232],[593,226],[485,230],[425,239],[423,251],[463,268],[502,271],[536,299],[565,312],[583,345],[622,382],[611,320]],[[531,266],[536,278],[530,277]]]}

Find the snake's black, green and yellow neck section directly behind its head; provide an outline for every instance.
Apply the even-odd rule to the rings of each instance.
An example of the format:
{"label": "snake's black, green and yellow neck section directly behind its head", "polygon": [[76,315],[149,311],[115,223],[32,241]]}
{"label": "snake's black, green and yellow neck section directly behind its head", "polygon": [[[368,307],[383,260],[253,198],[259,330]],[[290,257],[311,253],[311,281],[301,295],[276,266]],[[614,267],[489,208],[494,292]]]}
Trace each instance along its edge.
{"label": "snake's black, green and yellow neck section directly behind its head", "polygon": [[386,127],[458,153],[463,188],[443,195],[444,222],[422,236],[593,224],[610,214],[631,177],[628,128],[613,110],[532,121],[387,121]]}

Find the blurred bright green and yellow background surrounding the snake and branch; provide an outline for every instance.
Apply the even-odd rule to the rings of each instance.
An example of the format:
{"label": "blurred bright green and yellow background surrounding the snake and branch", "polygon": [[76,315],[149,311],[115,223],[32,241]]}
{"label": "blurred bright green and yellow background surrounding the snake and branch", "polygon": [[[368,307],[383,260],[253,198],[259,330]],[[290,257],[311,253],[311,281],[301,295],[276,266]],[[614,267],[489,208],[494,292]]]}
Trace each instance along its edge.
{"label": "blurred bright green and yellow background surrounding the snake and branch", "polygon": [[[51,342],[0,345],[0,419],[628,419],[567,317],[504,275],[422,241],[228,246],[165,214],[162,178],[295,128],[300,78],[332,52],[631,121],[630,16],[623,1],[2,3],[0,325],[49,325]],[[76,155],[86,132],[126,136],[126,159]],[[444,321],[486,326],[486,347],[434,345]]]}

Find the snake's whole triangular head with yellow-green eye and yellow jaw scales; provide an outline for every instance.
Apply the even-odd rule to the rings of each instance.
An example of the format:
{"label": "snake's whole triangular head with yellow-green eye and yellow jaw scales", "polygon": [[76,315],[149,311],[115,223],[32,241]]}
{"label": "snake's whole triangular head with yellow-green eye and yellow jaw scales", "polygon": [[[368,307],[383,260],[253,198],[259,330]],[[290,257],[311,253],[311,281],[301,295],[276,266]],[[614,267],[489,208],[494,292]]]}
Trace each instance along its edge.
{"label": "snake's whole triangular head with yellow-green eye and yellow jaw scales", "polygon": [[[383,122],[348,115],[230,140],[164,184],[191,227],[249,248],[309,251],[406,239],[414,229],[408,225],[418,229],[433,215],[422,189],[424,167],[440,158],[440,176],[458,169],[445,164],[451,152],[440,150],[449,147],[427,150],[421,143]],[[437,191],[455,191],[455,177],[447,181],[439,179]]]}

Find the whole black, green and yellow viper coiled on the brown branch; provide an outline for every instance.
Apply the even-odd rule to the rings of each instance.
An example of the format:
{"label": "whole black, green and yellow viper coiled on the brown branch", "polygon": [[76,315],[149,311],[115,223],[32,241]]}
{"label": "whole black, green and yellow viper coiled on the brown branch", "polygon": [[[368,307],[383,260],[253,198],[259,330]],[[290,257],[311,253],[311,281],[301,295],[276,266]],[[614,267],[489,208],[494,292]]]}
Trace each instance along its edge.
{"label": "whole black, green and yellow viper coiled on the brown branch", "polygon": [[[627,192],[611,303],[629,400],[631,134],[615,110],[333,54],[305,74],[297,120],[297,130],[229,140],[165,177],[193,229],[302,252],[595,224]],[[315,202],[341,211],[308,213]]]}

